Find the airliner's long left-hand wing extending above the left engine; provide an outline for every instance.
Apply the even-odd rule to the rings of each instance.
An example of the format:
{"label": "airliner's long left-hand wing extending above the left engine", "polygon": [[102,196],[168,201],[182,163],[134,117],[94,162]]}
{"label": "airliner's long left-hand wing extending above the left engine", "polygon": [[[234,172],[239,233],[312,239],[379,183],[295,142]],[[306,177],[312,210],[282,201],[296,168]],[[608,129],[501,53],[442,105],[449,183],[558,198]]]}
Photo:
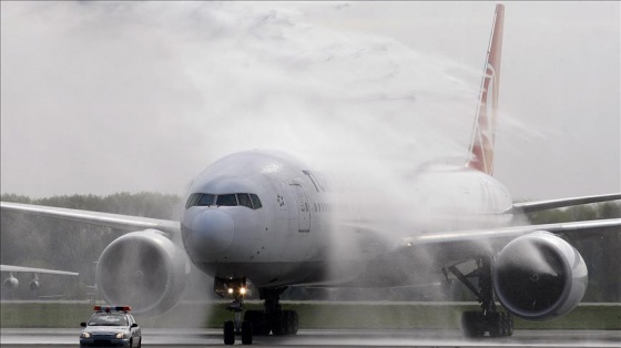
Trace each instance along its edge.
{"label": "airliner's long left-hand wing extending above the left engine", "polygon": [[170,234],[177,234],[181,231],[179,222],[142,216],[130,216],[9,202],[1,202],[0,209],[2,212],[13,212],[26,215],[73,221],[123,231],[154,228]]}

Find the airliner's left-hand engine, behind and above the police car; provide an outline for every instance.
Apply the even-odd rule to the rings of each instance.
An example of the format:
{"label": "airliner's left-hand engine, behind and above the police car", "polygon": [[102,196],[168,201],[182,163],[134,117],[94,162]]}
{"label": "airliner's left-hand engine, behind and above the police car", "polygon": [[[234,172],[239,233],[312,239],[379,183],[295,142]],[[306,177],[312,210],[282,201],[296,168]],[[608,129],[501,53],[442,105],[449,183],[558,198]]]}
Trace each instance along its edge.
{"label": "airliner's left-hand engine, behind and above the police car", "polygon": [[179,303],[189,273],[183,249],[160,231],[145,229],[112,242],[99,258],[95,277],[108,304],[157,315]]}

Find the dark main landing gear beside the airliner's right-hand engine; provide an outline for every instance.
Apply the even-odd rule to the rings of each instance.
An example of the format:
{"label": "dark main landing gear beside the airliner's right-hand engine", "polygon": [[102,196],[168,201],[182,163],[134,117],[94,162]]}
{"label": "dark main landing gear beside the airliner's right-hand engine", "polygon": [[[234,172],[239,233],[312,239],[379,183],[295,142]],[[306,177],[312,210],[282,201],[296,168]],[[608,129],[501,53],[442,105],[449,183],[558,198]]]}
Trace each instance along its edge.
{"label": "dark main landing gear beside the airliner's right-hand engine", "polygon": [[[466,337],[482,337],[489,332],[490,337],[503,337],[513,335],[513,316],[509,313],[498,311],[493,301],[493,290],[491,284],[491,263],[490,256],[482,256],[476,259],[477,268],[464,275],[457,265],[442,269],[448,278],[450,272],[455,275],[481,304],[480,311],[465,311],[461,315],[461,330]],[[479,289],[470,283],[469,278],[479,279]]]}

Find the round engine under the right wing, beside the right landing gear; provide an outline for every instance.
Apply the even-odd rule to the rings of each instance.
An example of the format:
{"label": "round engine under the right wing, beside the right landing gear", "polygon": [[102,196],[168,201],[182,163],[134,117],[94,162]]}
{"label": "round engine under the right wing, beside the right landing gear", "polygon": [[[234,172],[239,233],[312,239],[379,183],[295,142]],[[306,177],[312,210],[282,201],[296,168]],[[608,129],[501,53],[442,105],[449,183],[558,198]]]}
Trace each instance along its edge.
{"label": "round engine under the right wing, beside the right landing gear", "polygon": [[584,296],[584,259],[566,240],[538,231],[511,240],[498,254],[493,289],[513,315],[552,319],[571,311]]}

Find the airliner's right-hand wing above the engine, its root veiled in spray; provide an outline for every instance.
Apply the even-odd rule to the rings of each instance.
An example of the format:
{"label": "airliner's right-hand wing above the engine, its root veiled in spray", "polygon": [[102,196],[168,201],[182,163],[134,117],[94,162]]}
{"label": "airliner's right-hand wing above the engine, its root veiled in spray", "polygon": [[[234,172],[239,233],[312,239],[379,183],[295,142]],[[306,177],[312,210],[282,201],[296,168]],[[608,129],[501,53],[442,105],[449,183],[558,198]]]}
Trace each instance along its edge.
{"label": "airliner's right-hand wing above the engine, its root veiled in spray", "polygon": [[[621,218],[582,221],[541,225],[521,225],[469,231],[447,231],[416,234],[416,232],[387,231],[379,225],[345,223],[344,228],[353,231],[362,253],[375,248],[366,265],[364,276],[345,286],[395,287],[429,285],[444,279],[445,267],[466,260],[496,255],[511,240],[538,231],[552,234],[592,235],[594,233],[618,233]],[[390,237],[390,235],[400,237]],[[376,246],[383,247],[377,250]]]}

